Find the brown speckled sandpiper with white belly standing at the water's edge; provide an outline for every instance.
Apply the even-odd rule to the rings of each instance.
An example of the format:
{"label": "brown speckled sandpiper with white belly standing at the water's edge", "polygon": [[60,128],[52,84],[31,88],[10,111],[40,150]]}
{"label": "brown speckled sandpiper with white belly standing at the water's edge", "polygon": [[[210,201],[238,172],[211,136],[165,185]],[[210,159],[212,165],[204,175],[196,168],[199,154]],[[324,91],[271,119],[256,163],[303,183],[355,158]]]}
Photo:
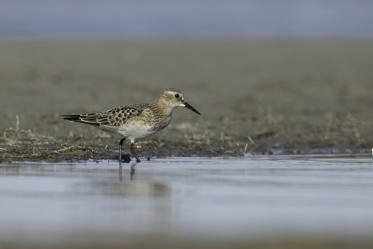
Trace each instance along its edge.
{"label": "brown speckled sandpiper with white belly standing at the water's edge", "polygon": [[167,88],[154,103],[120,106],[109,111],[91,114],[63,115],[67,117],[63,119],[94,125],[100,130],[123,136],[119,141],[119,162],[122,162],[123,142],[128,138],[131,140],[131,153],[136,161],[140,162],[134,149],[135,141],[153,137],[166,128],[171,121],[173,109],[179,106],[184,106],[201,115],[185,102],[181,91]]}

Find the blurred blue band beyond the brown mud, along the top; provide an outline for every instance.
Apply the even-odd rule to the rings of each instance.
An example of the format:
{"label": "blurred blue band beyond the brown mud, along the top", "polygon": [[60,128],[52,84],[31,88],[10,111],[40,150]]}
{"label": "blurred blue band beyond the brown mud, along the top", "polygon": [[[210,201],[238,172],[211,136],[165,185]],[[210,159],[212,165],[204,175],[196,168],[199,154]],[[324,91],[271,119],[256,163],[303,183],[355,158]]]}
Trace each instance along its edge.
{"label": "blurred blue band beyond the brown mud, along the top", "polygon": [[2,1],[1,38],[372,37],[369,0]]}

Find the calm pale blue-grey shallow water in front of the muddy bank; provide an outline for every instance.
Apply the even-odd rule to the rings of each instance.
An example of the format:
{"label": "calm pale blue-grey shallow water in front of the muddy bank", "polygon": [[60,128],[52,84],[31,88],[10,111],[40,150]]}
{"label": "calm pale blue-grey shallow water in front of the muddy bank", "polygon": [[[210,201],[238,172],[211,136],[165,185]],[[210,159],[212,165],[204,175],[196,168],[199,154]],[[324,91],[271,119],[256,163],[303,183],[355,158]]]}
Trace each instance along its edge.
{"label": "calm pale blue-grey shallow water in front of the muddy bank", "polygon": [[372,155],[0,164],[0,241],[366,237]]}

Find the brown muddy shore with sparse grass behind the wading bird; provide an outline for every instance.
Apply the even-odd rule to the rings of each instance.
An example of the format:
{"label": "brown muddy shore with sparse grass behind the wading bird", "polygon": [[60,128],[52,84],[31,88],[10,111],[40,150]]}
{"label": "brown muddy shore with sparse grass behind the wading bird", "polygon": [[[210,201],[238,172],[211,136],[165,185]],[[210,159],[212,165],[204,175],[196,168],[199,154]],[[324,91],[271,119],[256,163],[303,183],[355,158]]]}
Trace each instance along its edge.
{"label": "brown muddy shore with sparse grass behind the wading bird", "polygon": [[[370,153],[373,41],[0,42],[0,161],[108,159],[119,136],[60,115],[153,102],[173,112],[141,158]],[[129,144],[123,145],[129,153]]]}

